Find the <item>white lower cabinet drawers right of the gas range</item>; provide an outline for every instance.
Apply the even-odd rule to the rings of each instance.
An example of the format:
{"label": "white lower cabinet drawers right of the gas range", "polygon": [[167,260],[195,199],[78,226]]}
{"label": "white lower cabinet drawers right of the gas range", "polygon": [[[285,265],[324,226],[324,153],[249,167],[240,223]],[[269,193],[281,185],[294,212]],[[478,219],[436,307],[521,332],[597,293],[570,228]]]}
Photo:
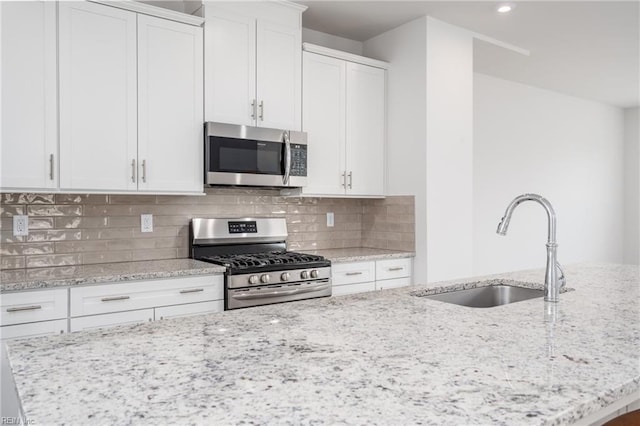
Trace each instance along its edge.
{"label": "white lower cabinet drawers right of the gas range", "polygon": [[331,266],[333,296],[411,285],[412,259],[335,263]]}

